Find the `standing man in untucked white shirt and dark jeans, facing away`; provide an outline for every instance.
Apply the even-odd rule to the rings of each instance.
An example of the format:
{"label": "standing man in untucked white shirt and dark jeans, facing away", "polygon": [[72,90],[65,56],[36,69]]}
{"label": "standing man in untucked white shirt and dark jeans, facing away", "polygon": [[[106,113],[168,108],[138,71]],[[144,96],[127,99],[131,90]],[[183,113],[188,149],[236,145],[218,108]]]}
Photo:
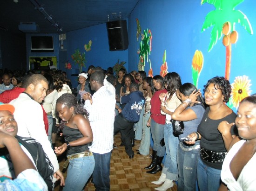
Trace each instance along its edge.
{"label": "standing man in untucked white shirt and dark jeans, facing away", "polygon": [[92,97],[89,93],[83,96],[84,107],[89,112],[89,121],[94,135],[90,151],[93,152],[95,159],[93,180],[96,191],[110,190],[110,158],[114,142],[115,95],[113,96],[104,86],[104,78],[102,70],[94,71],[89,83],[95,93]]}

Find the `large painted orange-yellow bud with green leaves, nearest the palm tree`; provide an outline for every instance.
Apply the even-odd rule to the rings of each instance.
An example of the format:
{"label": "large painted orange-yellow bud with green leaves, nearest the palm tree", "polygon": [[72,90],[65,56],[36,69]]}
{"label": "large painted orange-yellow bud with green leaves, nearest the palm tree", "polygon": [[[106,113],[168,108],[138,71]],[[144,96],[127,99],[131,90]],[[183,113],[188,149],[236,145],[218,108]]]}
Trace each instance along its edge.
{"label": "large painted orange-yellow bud with green leaves, nearest the palm tree", "polygon": [[199,79],[199,75],[202,71],[203,67],[203,55],[201,51],[196,50],[194,57],[192,59],[192,78],[193,78],[193,83],[195,87],[197,88],[197,83]]}

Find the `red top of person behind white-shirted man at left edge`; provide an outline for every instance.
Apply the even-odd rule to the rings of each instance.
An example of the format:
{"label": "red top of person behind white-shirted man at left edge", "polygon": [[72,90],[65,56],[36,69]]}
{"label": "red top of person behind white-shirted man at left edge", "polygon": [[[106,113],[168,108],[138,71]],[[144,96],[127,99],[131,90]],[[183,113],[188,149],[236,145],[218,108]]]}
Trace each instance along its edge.
{"label": "red top of person behind white-shirted man at left edge", "polygon": [[13,89],[5,90],[0,94],[0,102],[9,103],[12,100],[19,97],[19,95],[25,91],[25,88],[15,87]]}

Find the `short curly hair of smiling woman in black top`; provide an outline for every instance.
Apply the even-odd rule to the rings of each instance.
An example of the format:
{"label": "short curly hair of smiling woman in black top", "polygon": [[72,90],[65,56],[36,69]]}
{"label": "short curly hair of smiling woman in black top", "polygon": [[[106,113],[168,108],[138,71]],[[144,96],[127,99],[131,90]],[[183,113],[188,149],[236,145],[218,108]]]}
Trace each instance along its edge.
{"label": "short curly hair of smiling woman in black top", "polygon": [[222,95],[224,96],[224,102],[229,102],[230,94],[231,94],[231,85],[229,80],[224,78],[223,76],[215,76],[209,79],[204,85],[203,92],[205,93],[206,89],[208,88],[209,84],[213,83],[215,89],[220,89],[222,91]]}

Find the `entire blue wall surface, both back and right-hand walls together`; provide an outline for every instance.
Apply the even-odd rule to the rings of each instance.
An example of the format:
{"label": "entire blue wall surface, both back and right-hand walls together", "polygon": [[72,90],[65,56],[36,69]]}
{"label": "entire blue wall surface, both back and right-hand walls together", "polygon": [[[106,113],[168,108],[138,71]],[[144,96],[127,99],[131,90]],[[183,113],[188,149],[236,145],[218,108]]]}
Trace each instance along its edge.
{"label": "entire blue wall surface, both back and right-hand walls together", "polygon": [[[67,49],[67,60],[72,64],[72,70],[65,69],[64,63],[59,65],[59,69],[66,70],[68,76],[78,73],[78,66],[74,65],[70,56],[77,48],[85,51],[84,45],[88,44],[89,40],[92,40],[91,51],[86,52],[87,63],[83,70],[87,70],[91,64],[107,69],[109,66],[114,66],[118,59],[127,62],[125,67],[128,71],[137,70],[139,41],[137,42],[136,40],[135,19],[138,18],[142,32],[147,28],[152,32],[152,51],[148,57],[152,63],[153,75],[160,74],[162,56],[164,50],[166,50],[168,71],[179,73],[182,77],[182,83],[192,83],[192,58],[195,51],[200,50],[204,56],[204,65],[199,77],[198,88],[202,89],[209,78],[225,75],[226,48],[222,45],[221,38],[213,49],[208,52],[212,27],[204,32],[201,32],[201,29],[206,15],[215,10],[215,7],[207,3],[201,6],[200,3],[201,0],[140,0],[127,19],[129,46],[126,51],[109,51],[106,24],[67,32],[67,40],[64,40],[63,43],[64,49]],[[255,6],[256,2],[254,0],[244,0],[243,3],[236,6],[236,9],[241,10],[248,17],[254,31],[256,26],[256,19],[254,19]],[[239,34],[239,38],[237,43],[232,45],[229,80],[230,83],[233,83],[236,76],[249,76],[250,84],[252,84],[250,86],[252,94],[256,92],[255,86],[253,86],[256,83],[256,76],[254,75],[256,36],[250,35],[237,23],[235,29]],[[30,47],[28,43],[27,39],[27,45],[29,45],[27,47]],[[54,46],[56,47],[56,52],[54,51],[52,56],[57,56],[58,58],[58,34],[56,34]],[[28,56],[34,56],[29,52],[28,48],[27,52]],[[149,63],[146,63],[145,71],[148,73],[148,70]],[[73,87],[76,87],[77,78],[71,78]]]}

